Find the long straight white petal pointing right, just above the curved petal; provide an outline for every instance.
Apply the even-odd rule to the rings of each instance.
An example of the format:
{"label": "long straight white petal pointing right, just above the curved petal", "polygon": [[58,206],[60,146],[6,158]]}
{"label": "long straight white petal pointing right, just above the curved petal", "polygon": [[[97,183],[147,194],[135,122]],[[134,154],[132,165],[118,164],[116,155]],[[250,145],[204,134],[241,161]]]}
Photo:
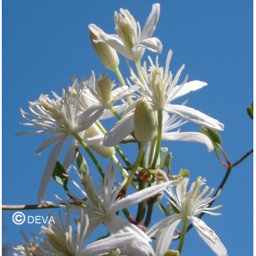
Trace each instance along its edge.
{"label": "long straight white petal pointing right, just above the curved petal", "polygon": [[173,104],[165,104],[163,109],[194,124],[200,124],[201,126],[206,126],[214,130],[224,130],[224,124],[212,117],[208,117],[206,114],[203,114],[196,109]]}

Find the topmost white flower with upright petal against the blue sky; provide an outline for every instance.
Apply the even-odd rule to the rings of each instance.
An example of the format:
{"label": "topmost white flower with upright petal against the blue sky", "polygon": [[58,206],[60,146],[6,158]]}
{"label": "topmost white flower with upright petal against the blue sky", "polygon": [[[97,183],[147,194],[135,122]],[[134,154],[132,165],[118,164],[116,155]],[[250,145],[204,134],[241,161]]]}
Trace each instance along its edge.
{"label": "topmost white flower with upright petal against the blue sky", "polygon": [[[89,29],[98,37],[97,41],[104,41],[117,52],[128,59],[139,60],[145,49],[153,52],[162,52],[162,43],[158,38],[152,37],[156,23],[159,19],[160,4],[153,4],[152,11],[140,34],[139,22],[136,22],[128,10],[120,9],[119,15],[115,12],[115,23],[117,34],[106,34],[94,24]],[[124,17],[123,17],[123,16]],[[97,42],[95,41],[95,42]]]}

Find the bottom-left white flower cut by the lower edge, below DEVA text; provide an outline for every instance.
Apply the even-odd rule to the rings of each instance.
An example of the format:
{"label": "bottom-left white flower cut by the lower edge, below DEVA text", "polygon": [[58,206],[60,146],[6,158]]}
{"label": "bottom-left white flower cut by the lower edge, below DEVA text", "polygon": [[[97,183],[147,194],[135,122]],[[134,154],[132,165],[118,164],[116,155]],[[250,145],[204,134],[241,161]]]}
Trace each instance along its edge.
{"label": "bottom-left white flower cut by the lower edge, below DEVA text", "polygon": [[[68,205],[69,204],[67,204],[67,206]],[[26,251],[33,251],[32,249],[28,249],[31,248],[31,245],[34,245],[34,248],[36,249],[34,251],[41,252],[39,255],[100,256],[104,253],[109,253],[116,250],[118,247],[130,244],[132,243],[132,240],[136,238],[130,232],[126,234],[117,234],[84,246],[88,238],[87,230],[90,225],[87,215],[83,214],[83,210],[81,209],[81,217],[76,221],[78,230],[75,232],[72,231],[72,223],[69,213],[66,214],[65,223],[60,212],[59,217],[60,222],[57,220],[57,218],[54,218],[54,224],[49,222],[49,228],[41,226],[42,230],[40,234],[46,235],[47,237],[45,239],[41,239],[41,237],[34,235],[34,237],[41,242],[43,251],[38,249],[39,245],[34,245],[34,243],[32,243],[33,240],[30,242],[30,247],[26,246],[26,248],[21,249],[21,247],[18,246],[17,248],[13,249],[26,253]],[[31,253],[27,255],[38,254]]]}

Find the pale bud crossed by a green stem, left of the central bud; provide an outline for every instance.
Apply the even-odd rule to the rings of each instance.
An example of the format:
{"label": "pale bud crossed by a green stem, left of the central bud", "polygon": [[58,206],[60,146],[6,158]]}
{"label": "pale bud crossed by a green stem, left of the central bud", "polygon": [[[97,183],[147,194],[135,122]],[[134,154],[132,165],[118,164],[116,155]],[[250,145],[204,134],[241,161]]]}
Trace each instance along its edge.
{"label": "pale bud crossed by a green stem, left of the central bud", "polygon": [[[97,135],[102,135],[102,132],[96,124],[93,124],[86,130],[84,139],[92,138]],[[89,147],[93,148],[97,154],[100,154],[104,158],[110,158],[115,154],[115,147],[105,147],[102,145],[89,145]]]}

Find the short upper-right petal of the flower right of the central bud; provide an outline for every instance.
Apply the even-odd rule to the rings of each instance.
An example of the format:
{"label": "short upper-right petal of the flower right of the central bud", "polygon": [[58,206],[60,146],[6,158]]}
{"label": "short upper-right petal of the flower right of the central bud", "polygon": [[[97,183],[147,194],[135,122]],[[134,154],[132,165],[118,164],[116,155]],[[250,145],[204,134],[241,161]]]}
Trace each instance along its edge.
{"label": "short upper-right petal of the flower right of the central bud", "polygon": [[171,101],[174,101],[177,98],[184,96],[185,94],[189,94],[190,92],[194,92],[206,86],[207,86],[207,83],[202,81],[197,81],[197,80],[185,83],[180,90],[179,90],[179,87],[181,86],[176,86],[172,89],[171,93],[169,94],[169,99],[171,99]]}

